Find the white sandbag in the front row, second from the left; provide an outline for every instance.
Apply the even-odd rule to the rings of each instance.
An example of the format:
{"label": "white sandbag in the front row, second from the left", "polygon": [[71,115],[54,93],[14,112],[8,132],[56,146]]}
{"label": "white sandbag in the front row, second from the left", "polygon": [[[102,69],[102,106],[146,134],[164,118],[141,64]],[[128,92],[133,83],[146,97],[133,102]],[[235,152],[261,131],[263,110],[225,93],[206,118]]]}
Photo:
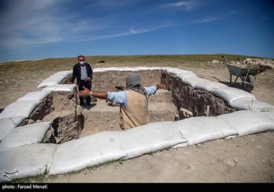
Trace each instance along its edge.
{"label": "white sandbag in the front row, second from the left", "polygon": [[77,171],[125,156],[119,132],[99,132],[62,143],[56,149],[49,174]]}

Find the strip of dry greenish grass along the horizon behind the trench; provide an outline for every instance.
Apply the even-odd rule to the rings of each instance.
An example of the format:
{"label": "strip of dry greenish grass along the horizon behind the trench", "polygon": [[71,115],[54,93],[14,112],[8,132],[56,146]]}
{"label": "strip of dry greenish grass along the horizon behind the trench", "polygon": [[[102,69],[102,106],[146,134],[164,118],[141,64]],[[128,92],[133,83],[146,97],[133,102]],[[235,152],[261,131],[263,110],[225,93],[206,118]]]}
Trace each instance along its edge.
{"label": "strip of dry greenish grass along the horizon behind the trench", "polygon": [[[237,60],[237,58],[248,58],[249,56],[227,55],[227,60]],[[249,57],[251,58],[251,57]],[[253,57],[254,58],[254,57]],[[97,63],[99,61],[104,63]],[[86,62],[96,64],[96,67],[199,67],[200,63],[220,60],[221,54],[212,55],[161,55],[161,56],[86,56]],[[19,60],[12,62],[3,62],[0,64],[0,86],[7,88],[10,84],[16,83],[16,79],[27,74],[29,77],[39,73],[55,73],[58,71],[71,70],[77,58],[48,58],[44,60]],[[130,65],[129,65],[130,64]],[[5,82],[5,83],[4,83]]]}

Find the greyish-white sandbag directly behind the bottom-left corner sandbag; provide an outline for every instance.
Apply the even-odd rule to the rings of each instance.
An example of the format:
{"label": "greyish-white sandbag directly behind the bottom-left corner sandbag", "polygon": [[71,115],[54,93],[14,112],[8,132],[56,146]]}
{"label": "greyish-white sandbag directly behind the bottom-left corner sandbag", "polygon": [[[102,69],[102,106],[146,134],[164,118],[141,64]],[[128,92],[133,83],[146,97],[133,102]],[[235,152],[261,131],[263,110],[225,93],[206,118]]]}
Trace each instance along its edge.
{"label": "greyish-white sandbag directly behind the bottom-left corner sandbag", "polygon": [[40,143],[50,127],[51,122],[42,122],[14,128],[1,141],[1,150]]}

